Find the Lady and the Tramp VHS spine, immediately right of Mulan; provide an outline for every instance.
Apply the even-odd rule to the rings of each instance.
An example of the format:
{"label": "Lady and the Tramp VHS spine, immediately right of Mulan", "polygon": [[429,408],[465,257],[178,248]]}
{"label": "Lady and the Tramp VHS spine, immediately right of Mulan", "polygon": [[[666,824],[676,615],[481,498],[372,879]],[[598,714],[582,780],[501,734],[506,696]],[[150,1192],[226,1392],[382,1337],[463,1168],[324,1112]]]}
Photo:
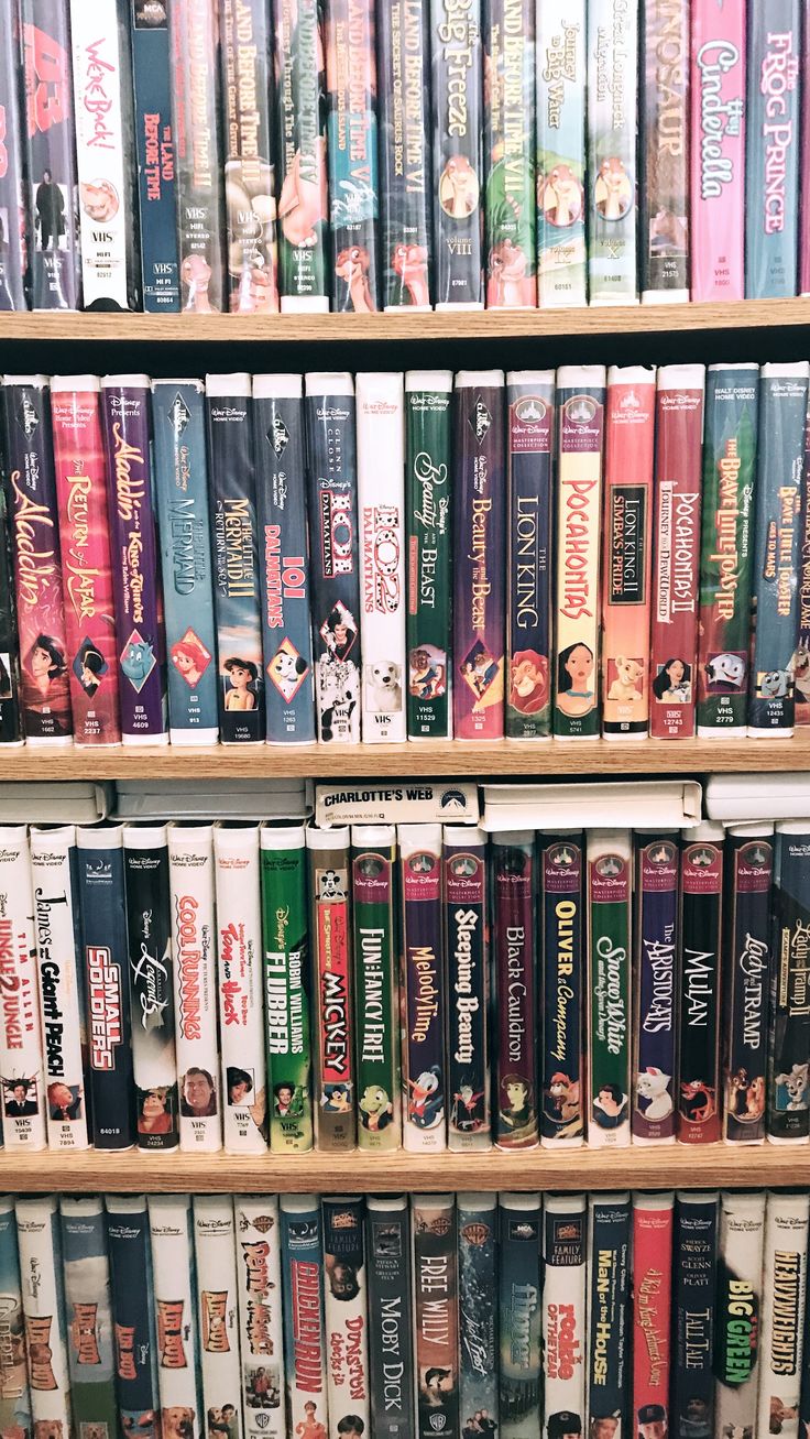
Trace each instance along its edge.
{"label": "Lady and the Tramp VHS spine, immediately right of Mulan", "polygon": [[722,1137],[732,1144],[765,1138],[773,833],[735,825],[725,842]]}

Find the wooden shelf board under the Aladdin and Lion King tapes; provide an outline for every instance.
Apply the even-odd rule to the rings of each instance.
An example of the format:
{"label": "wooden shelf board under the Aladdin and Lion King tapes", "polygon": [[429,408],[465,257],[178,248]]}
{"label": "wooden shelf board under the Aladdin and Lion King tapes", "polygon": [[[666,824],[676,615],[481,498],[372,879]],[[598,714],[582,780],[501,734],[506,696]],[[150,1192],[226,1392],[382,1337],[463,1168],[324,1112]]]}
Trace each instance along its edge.
{"label": "wooden shelf board under the Aladdin and Lion King tapes", "polygon": [[141,748],[43,750],[0,745],[0,780],[161,780],[282,778],[324,780],[386,777],[563,774],[701,774],[704,771],[777,773],[810,770],[810,727],[793,740],[606,740],[508,741],[473,744],[430,740],[417,744],[358,745],[210,745],[199,750],[167,745]]}

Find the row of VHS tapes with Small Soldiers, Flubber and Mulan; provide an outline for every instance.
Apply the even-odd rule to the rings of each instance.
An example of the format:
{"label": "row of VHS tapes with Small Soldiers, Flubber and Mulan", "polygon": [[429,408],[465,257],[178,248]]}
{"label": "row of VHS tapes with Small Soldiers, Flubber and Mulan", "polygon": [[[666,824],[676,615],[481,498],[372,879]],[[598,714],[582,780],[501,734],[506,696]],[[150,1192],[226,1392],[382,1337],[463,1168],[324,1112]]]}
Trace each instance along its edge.
{"label": "row of VHS tapes with Small Soldiers, Flubber and Mulan", "polygon": [[809,927],[800,820],[3,827],[6,1145],[807,1145]]}

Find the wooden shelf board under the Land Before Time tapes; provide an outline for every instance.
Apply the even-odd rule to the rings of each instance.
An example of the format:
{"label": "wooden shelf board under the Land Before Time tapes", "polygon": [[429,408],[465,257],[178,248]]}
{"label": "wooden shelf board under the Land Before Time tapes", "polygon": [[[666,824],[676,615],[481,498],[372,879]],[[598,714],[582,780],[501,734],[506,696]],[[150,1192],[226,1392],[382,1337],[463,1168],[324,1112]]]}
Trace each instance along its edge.
{"label": "wooden shelf board under the Land Before Time tapes", "polygon": [[0,344],[16,340],[180,344],[390,340],[495,340],[544,335],[670,334],[810,324],[810,299],[622,305],[578,309],[409,312],[377,315],[4,314]]}

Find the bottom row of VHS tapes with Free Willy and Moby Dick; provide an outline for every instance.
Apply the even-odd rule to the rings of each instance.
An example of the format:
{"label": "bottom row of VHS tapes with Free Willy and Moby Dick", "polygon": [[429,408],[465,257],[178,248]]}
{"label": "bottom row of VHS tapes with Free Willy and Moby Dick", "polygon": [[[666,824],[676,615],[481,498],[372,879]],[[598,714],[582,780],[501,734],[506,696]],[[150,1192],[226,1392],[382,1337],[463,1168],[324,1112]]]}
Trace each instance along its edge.
{"label": "bottom row of VHS tapes with Free Willy and Moby Dick", "polygon": [[6,1199],[0,1423],[797,1439],[809,1209],[806,1191]]}

